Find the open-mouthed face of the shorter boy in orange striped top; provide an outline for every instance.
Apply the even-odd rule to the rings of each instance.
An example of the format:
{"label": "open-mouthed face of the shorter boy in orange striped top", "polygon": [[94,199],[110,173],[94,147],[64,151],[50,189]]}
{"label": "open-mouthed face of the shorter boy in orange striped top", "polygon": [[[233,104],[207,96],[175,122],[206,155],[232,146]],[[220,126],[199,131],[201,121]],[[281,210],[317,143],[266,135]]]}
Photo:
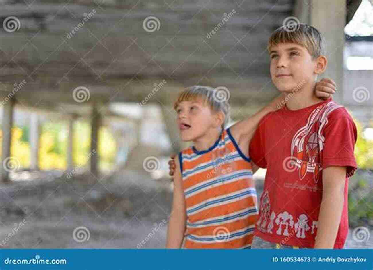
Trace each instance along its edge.
{"label": "open-mouthed face of the shorter boy in orange striped top", "polygon": [[210,127],[214,127],[214,114],[203,100],[184,100],[176,107],[177,124],[184,142],[203,136]]}

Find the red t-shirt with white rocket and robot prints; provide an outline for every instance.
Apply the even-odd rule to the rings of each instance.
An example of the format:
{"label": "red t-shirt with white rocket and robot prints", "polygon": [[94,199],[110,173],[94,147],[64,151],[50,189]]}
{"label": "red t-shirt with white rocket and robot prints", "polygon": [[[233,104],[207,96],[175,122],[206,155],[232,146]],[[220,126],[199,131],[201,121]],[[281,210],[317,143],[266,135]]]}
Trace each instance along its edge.
{"label": "red t-shirt with white rocket and robot prints", "polygon": [[322,200],[322,170],[347,167],[344,205],[334,248],[348,234],[348,177],[357,167],[357,131],[347,110],[331,99],[300,110],[267,114],[250,142],[250,158],[267,168],[254,235],[313,248]]}

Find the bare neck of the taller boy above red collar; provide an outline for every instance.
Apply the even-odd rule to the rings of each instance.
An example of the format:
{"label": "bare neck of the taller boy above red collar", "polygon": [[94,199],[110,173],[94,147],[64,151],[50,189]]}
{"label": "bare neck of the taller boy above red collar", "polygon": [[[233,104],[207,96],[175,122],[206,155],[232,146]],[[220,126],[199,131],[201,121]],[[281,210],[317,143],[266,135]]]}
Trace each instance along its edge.
{"label": "bare neck of the taller boy above red collar", "polygon": [[323,100],[315,95],[315,86],[316,82],[312,82],[294,93],[285,93],[285,96],[288,95],[286,107],[291,111],[296,111],[322,102]]}

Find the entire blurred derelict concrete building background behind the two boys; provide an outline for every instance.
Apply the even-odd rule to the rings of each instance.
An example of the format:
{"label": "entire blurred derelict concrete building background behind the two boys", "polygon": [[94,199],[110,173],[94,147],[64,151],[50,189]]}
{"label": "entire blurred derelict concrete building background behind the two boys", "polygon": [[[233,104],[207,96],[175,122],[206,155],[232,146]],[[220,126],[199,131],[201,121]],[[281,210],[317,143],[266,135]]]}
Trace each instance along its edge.
{"label": "entire blurred derelict concrete building background behind the two boys", "polygon": [[373,0],[0,0],[0,18],[2,248],[164,248],[177,93],[226,87],[252,115],[276,96],[270,33],[299,22],[358,127],[346,246],[373,248]]}

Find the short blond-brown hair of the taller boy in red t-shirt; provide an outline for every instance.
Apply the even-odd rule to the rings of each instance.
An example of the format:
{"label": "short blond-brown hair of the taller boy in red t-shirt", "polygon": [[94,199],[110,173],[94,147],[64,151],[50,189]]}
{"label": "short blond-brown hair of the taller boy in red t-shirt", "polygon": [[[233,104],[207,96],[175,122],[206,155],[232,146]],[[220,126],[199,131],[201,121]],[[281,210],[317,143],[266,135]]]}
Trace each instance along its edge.
{"label": "short blond-brown hair of the taller boy in red t-shirt", "polygon": [[313,59],[325,55],[325,44],[322,35],[316,28],[307,24],[297,24],[295,29],[286,25],[277,28],[269,38],[267,50],[279,43],[296,43],[304,46]]}

